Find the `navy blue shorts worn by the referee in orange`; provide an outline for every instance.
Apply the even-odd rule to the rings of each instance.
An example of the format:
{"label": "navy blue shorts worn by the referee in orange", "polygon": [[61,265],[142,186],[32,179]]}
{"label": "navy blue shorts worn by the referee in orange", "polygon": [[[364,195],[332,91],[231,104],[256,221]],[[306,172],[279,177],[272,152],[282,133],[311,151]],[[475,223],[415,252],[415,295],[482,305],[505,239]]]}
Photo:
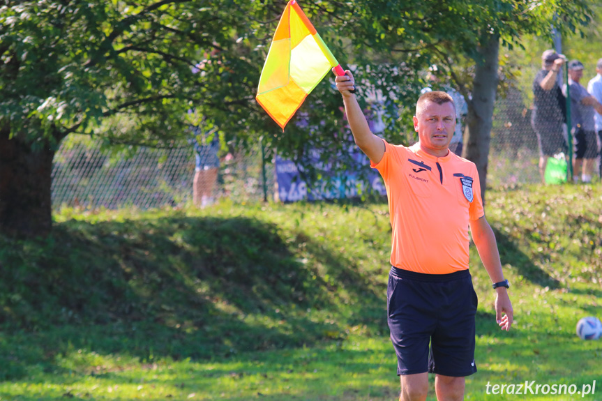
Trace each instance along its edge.
{"label": "navy blue shorts worn by the referee in orange", "polygon": [[468,270],[424,274],[392,266],[386,299],[398,375],[465,377],[476,372],[478,301]]}

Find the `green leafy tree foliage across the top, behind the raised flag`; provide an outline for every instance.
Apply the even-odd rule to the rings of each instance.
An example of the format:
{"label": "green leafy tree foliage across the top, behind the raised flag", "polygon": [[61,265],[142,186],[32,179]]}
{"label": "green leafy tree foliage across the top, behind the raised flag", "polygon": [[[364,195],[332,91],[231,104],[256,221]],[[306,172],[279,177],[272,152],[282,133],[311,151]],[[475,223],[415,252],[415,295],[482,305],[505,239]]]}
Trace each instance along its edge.
{"label": "green leafy tree foliage across the top, behind the raised flag", "polygon": [[[186,143],[190,124],[202,122],[236,146],[261,138],[270,149],[266,158],[278,149],[310,176],[320,174],[308,161],[310,149],[343,172],[353,165],[352,142],[331,78],[311,93],[286,133],[255,103],[284,6],[283,0],[8,1],[0,8],[0,135],[34,152],[57,149],[71,133],[173,146]],[[303,8],[343,66],[354,66],[363,108],[386,99],[382,135],[401,144],[414,139],[410,117],[433,64],[469,98],[470,66],[479,63],[488,36],[520,43],[525,33],[545,34],[552,21],[569,31],[589,21],[585,0],[327,0]]]}

